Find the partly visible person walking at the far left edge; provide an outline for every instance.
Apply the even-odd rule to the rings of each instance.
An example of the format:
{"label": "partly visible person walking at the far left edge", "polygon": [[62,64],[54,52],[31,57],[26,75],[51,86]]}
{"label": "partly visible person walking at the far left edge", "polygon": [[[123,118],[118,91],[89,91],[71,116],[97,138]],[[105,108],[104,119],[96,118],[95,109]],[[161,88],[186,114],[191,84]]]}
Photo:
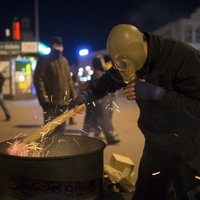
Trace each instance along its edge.
{"label": "partly visible person walking at the far left edge", "polygon": [[3,98],[3,85],[4,85],[4,82],[5,82],[5,77],[3,75],[2,72],[0,72],[0,106],[5,114],[5,121],[9,121],[11,119],[11,115],[10,115],[10,112],[4,102],[4,98]]}

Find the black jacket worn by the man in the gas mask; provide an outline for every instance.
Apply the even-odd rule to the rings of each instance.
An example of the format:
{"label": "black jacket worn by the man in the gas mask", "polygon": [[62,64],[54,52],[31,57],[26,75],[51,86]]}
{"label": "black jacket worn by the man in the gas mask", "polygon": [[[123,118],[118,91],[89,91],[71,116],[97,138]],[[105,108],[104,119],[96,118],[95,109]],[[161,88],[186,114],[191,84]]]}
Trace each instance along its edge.
{"label": "black jacket worn by the man in the gas mask", "polygon": [[[173,140],[173,144],[166,144],[172,151],[180,154],[184,154],[183,149],[197,151],[200,146],[199,52],[173,39],[150,33],[145,35],[148,57],[137,77],[165,88],[166,92],[159,101],[137,100],[140,108],[138,126],[146,139],[151,133],[162,135],[162,141],[155,139],[160,145],[164,138],[165,141]],[[111,68],[101,79],[91,83],[88,91],[91,98],[101,98],[123,86],[118,72]]]}

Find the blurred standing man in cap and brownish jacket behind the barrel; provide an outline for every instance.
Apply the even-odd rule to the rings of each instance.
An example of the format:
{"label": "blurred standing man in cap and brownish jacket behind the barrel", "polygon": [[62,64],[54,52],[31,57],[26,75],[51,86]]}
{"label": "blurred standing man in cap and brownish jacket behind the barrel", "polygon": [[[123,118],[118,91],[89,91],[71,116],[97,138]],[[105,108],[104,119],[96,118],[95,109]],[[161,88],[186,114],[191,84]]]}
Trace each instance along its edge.
{"label": "blurred standing man in cap and brownish jacket behind the barrel", "polygon": [[[37,97],[44,111],[44,124],[66,111],[75,90],[70,74],[70,66],[62,55],[64,46],[60,36],[51,39],[51,52],[38,58],[34,72],[34,85]],[[63,132],[65,123],[56,128]]]}

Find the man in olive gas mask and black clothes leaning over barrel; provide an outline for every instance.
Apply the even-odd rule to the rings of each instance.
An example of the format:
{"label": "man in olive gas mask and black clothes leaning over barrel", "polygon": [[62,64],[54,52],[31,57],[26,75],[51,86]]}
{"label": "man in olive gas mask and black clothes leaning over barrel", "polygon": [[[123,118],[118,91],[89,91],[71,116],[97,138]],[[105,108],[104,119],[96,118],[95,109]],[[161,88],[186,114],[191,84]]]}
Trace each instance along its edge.
{"label": "man in olive gas mask and black clothes leaning over barrel", "polygon": [[199,52],[128,24],[111,30],[107,47],[113,67],[71,106],[124,88],[145,137],[133,199],[164,200],[171,184],[178,200],[200,199]]}

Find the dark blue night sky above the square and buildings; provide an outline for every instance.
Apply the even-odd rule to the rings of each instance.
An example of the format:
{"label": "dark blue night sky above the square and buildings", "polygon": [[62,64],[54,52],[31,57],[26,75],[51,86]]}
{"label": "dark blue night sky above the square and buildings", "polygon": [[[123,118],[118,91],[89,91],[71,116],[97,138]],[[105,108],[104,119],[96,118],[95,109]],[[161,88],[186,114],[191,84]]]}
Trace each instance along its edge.
{"label": "dark blue night sky above the square and buildings", "polygon": [[[131,23],[142,31],[154,31],[160,26],[189,17],[199,0],[39,0],[40,41],[48,44],[52,35],[64,38],[64,55],[76,63],[78,50],[106,48],[110,29],[119,23]],[[5,27],[11,27],[14,17],[27,16],[34,31],[34,0],[1,2],[0,40]]]}

